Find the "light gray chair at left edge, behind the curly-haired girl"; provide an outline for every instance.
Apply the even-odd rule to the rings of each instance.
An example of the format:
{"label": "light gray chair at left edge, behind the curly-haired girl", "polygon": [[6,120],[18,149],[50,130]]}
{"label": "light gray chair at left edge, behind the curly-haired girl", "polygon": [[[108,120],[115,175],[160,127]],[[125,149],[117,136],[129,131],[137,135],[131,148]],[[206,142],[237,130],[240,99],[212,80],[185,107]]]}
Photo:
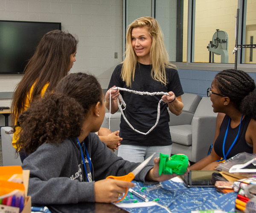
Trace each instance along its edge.
{"label": "light gray chair at left edge, behind the curly-haired girl", "polygon": [[16,150],[12,146],[13,134],[6,133],[6,131],[9,132],[10,130],[12,130],[12,127],[1,128],[3,166],[20,166],[20,156],[16,154]]}

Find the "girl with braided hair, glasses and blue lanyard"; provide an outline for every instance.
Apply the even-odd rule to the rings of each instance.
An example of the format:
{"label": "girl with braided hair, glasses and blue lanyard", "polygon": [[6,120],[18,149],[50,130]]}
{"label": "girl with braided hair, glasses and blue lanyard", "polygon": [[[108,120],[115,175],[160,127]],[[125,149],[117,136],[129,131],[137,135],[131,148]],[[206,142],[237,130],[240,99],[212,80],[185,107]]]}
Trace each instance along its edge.
{"label": "girl with braided hair, glasses and blue lanyard", "polygon": [[242,152],[256,153],[256,88],[244,71],[219,72],[207,89],[213,112],[218,112],[213,149],[189,167],[214,170],[218,164]]}

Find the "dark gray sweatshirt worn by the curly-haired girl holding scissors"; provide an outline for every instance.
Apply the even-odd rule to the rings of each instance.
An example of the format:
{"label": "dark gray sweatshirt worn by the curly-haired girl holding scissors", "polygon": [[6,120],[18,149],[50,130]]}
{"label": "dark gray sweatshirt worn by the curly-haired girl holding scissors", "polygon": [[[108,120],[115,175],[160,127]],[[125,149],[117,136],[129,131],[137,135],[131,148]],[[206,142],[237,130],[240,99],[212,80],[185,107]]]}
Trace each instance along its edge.
{"label": "dark gray sweatshirt worn by the curly-haired girl holding scissors", "polygon": [[[23,161],[23,170],[30,170],[28,195],[32,198],[32,204],[94,202],[95,181],[110,175],[124,176],[140,164],[117,157],[95,133],[90,133],[84,139],[84,145],[91,161],[90,170],[82,146],[87,174],[76,138],[67,139],[58,146],[44,143]],[[134,180],[155,183],[145,182],[151,168],[143,168]]]}

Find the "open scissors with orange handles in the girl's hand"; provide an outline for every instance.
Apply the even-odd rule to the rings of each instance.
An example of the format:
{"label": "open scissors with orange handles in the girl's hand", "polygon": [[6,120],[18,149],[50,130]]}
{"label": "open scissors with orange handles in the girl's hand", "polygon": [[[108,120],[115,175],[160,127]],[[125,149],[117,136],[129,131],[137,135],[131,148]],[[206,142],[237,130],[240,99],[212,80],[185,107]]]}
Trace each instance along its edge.
{"label": "open scissors with orange handles in the girl's hand", "polygon": [[[145,159],[145,161],[143,161],[139,166],[137,166],[132,172],[128,173],[127,175],[119,176],[119,177],[108,176],[106,179],[113,178],[113,179],[116,179],[116,180],[119,180],[119,181],[129,181],[129,182],[131,182],[134,179],[134,177],[148,164],[148,162],[151,160],[151,158],[153,158],[154,154],[155,153],[150,155],[147,159]],[[127,193],[128,193],[128,188],[126,188],[125,195],[122,196],[121,199],[119,199],[117,201],[114,201],[114,203],[117,203],[117,202],[120,202],[121,200],[123,200],[125,198],[125,196],[127,195]]]}

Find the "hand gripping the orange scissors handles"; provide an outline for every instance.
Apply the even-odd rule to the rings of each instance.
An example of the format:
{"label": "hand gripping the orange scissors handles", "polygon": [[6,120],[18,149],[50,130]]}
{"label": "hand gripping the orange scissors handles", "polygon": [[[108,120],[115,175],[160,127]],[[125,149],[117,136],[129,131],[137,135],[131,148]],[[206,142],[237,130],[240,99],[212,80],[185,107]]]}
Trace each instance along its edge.
{"label": "hand gripping the orange scissors handles", "polygon": [[126,188],[134,187],[134,183],[119,181],[112,178],[103,179],[94,183],[95,202],[110,203],[122,197]]}

